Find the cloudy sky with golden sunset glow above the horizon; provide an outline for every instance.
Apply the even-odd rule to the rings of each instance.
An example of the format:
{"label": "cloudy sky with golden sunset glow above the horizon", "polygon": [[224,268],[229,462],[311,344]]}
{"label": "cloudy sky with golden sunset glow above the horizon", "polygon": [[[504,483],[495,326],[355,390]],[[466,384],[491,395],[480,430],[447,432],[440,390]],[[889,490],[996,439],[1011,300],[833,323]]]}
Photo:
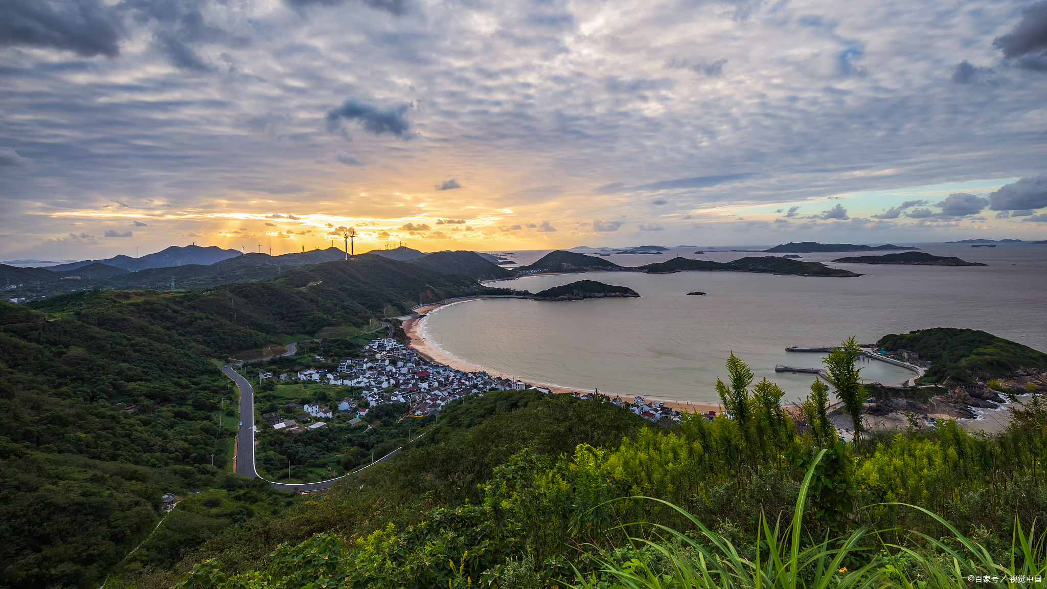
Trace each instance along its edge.
{"label": "cloudy sky with golden sunset glow above the horizon", "polygon": [[0,249],[1047,239],[1047,0],[6,0]]}

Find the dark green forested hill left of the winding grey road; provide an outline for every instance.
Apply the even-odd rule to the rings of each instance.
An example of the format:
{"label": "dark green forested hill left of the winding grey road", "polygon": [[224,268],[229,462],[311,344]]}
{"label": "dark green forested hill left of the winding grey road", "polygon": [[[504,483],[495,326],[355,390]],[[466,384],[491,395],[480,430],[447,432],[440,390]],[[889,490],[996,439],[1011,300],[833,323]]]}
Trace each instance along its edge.
{"label": "dark green forested hill left of the winding grey road", "polygon": [[0,303],[0,587],[97,587],[156,524],[165,492],[196,487],[204,503],[183,522],[196,531],[146,562],[170,565],[238,518],[282,508],[227,470],[237,393],[222,358],[480,288],[363,255],[209,290]]}

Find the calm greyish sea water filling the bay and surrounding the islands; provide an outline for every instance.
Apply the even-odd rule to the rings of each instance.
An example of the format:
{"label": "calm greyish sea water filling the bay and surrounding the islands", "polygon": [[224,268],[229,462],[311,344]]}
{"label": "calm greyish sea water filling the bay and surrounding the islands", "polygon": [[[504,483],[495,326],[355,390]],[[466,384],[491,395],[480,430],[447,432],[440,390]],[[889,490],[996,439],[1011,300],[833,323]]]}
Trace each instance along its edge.
{"label": "calm greyish sea water filling the bay and surrounding the islands", "polygon": [[[775,365],[821,366],[820,354],[787,346],[832,345],[857,335],[967,327],[1047,350],[1047,244],[912,244],[939,256],[987,266],[830,264],[861,278],[802,278],[747,272],[644,275],[599,272],[527,277],[493,285],[536,292],[576,280],[628,286],[642,298],[538,302],[481,300],[443,307],[423,321],[426,337],[447,353],[495,373],[623,395],[715,401],[731,351],[787,397],[806,395],[812,374],[776,373]],[[612,256],[620,265],[692,257]],[[529,263],[548,250],[517,252]],[[725,262],[763,254],[707,253]],[[853,254],[801,254],[829,262]],[[706,297],[688,297],[700,290]],[[913,375],[866,362],[863,376],[898,384]]]}

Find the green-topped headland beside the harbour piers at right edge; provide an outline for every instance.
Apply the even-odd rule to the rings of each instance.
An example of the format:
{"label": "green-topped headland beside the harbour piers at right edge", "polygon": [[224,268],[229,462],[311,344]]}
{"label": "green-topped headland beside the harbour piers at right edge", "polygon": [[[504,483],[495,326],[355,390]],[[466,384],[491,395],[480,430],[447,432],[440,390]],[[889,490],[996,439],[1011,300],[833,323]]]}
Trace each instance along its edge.
{"label": "green-topped headland beside the harbour piers at right edge", "polygon": [[888,351],[908,350],[932,362],[925,380],[946,378],[970,383],[982,377],[1013,374],[1023,368],[1047,368],[1047,354],[1028,346],[975,329],[936,327],[884,335],[876,345]]}

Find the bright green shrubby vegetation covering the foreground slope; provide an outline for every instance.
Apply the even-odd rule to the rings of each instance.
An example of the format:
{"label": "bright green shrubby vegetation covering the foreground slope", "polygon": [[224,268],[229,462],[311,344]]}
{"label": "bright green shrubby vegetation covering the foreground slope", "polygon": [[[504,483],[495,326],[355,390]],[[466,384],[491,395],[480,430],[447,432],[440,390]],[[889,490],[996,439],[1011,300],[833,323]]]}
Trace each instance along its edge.
{"label": "bright green shrubby vegetation covering the foreground slope", "polygon": [[[781,389],[753,385],[748,367],[734,365],[722,384],[733,418],[691,416],[669,431],[631,426],[627,413],[611,421],[625,430],[578,430],[619,415],[606,399],[525,391],[459,401],[425,446],[290,517],[257,518],[208,543],[192,557],[208,560],[181,587],[599,587],[629,574],[664,587],[654,579],[686,570],[672,559],[712,567],[717,587],[749,586],[745,575],[761,574],[757,561],[770,563],[762,574],[787,573],[789,559],[805,582],[828,586],[953,587],[962,584],[950,572],[953,554],[962,577],[1044,573],[1043,532],[1028,530],[1047,509],[1047,408],[1030,405],[990,437],[939,421],[845,444],[827,420],[824,385],[816,380],[803,407],[786,412]],[[533,400],[502,412],[504,395]],[[783,541],[775,520],[792,521],[795,536]],[[632,540],[664,542],[659,529],[678,540],[664,551]],[[1028,549],[1011,544],[1016,535],[1032,541]],[[139,579],[158,586],[177,576]]]}

